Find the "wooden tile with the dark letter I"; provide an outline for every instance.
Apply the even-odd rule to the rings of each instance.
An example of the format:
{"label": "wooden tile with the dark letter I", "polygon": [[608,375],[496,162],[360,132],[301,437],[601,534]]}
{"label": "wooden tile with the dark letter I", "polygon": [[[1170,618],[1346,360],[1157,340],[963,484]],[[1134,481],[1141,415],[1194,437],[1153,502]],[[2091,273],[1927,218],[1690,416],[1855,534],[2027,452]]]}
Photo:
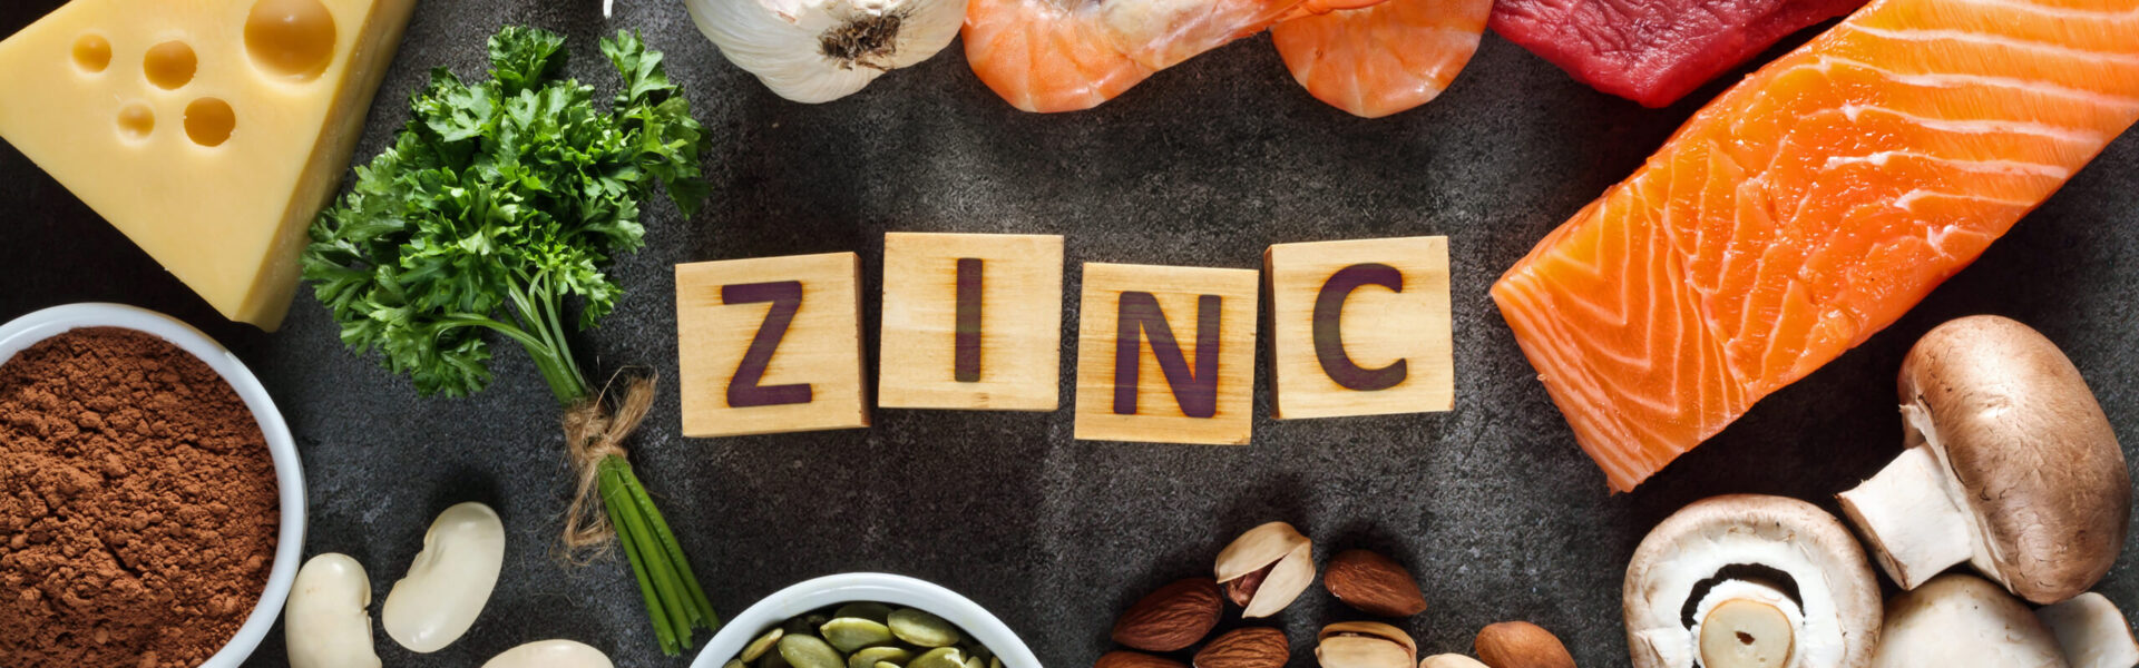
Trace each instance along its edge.
{"label": "wooden tile with the dark letter I", "polygon": [[886,409],[1061,405],[1063,238],[886,233]]}

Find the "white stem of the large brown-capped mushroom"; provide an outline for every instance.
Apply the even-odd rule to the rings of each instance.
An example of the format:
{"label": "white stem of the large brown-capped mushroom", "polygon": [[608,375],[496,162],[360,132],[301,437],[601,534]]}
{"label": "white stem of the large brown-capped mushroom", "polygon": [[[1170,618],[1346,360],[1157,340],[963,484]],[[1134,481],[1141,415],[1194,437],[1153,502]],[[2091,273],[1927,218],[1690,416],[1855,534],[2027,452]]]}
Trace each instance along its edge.
{"label": "white stem of the large brown-capped mushroom", "polygon": [[1902,589],[1917,589],[1974,557],[1970,518],[1946,490],[1946,473],[1929,445],[1902,450],[1887,469],[1840,499],[1880,570]]}

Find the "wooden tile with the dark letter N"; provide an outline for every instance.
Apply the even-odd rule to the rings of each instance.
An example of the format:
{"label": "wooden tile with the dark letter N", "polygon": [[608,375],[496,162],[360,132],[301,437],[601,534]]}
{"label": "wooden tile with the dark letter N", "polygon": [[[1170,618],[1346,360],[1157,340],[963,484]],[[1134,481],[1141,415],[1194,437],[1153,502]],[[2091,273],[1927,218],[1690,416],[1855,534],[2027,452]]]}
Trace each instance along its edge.
{"label": "wooden tile with the dark letter N", "polygon": [[1256,298],[1253,270],[1087,263],[1076,437],[1247,443]]}

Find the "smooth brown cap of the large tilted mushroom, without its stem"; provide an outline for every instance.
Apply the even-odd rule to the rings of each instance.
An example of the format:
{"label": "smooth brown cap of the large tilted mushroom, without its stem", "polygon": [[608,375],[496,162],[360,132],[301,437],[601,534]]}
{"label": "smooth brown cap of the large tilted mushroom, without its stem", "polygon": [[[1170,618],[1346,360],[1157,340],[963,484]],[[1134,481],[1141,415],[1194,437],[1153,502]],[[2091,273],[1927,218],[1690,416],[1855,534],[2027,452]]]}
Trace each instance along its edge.
{"label": "smooth brown cap of the large tilted mushroom, without its stem", "polygon": [[1979,570],[2036,604],[2100,582],[2124,548],[2130,473],[2058,345],[2004,317],[1955,319],[1908,351],[1899,390],[1910,441],[1938,452],[1981,529]]}

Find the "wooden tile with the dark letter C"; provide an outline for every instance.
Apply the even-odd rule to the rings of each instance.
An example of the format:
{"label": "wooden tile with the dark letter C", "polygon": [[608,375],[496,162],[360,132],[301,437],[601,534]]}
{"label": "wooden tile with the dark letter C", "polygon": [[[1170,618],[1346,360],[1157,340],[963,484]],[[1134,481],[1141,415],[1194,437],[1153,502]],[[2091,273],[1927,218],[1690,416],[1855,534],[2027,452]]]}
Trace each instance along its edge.
{"label": "wooden tile with the dark letter C", "polygon": [[1273,418],[1452,405],[1446,238],[1277,244],[1262,265]]}

